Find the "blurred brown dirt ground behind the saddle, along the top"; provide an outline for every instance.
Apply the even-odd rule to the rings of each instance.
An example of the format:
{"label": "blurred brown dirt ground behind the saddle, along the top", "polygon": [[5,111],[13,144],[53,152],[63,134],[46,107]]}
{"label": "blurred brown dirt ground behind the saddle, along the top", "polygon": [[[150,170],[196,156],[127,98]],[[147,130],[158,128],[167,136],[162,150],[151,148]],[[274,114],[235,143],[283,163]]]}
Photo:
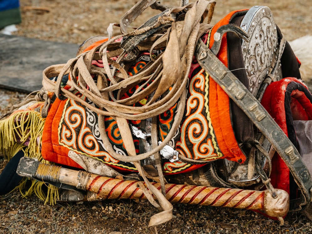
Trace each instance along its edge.
{"label": "blurred brown dirt ground behind the saddle, along the top", "polygon": [[[110,23],[118,23],[129,10],[134,0],[21,0],[22,23],[17,35],[50,41],[80,44],[95,35],[107,36]],[[190,1],[192,2],[192,1]],[[178,0],[161,1],[167,6],[178,6]],[[276,24],[288,41],[310,34],[312,17],[309,0],[217,0],[212,23],[215,24],[227,13],[255,5],[268,6]],[[36,7],[42,8],[41,10]],[[132,26],[139,26],[149,17],[159,13],[146,9]],[[119,28],[115,28],[120,34]]]}

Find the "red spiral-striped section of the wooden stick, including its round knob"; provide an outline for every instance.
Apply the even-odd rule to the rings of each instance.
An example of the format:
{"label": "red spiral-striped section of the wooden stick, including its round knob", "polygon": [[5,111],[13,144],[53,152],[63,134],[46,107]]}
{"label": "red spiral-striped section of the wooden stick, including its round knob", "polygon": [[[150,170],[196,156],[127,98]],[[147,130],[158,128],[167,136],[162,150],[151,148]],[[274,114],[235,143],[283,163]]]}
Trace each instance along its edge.
{"label": "red spiral-striped section of the wooden stick, including its round knob", "polygon": [[[85,190],[94,192],[92,199],[147,199],[136,180],[120,180],[92,174]],[[160,190],[160,183],[153,183]],[[166,184],[166,198],[171,203],[187,203],[216,207],[260,210],[270,217],[283,217],[289,210],[289,195],[275,189],[273,198],[268,190],[244,190],[195,185]]]}

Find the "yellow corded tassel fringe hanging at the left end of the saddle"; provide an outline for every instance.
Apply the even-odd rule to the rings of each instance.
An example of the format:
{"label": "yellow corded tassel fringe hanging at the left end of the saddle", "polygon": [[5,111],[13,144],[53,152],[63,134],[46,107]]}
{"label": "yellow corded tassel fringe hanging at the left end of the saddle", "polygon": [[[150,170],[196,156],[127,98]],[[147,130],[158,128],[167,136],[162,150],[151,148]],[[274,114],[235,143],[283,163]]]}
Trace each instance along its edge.
{"label": "yellow corded tassel fringe hanging at the left end of the saddle", "polygon": [[[42,158],[40,144],[38,144],[42,139],[44,123],[45,119],[37,111],[18,112],[7,119],[0,120],[0,155],[11,159],[18,151],[23,150],[26,157],[37,158],[39,161],[51,164]],[[31,181],[30,187],[27,186],[29,181]],[[22,197],[25,198],[35,193],[40,200],[45,201],[45,204],[54,205],[59,199],[58,189],[49,184],[45,194],[43,185],[46,186],[44,182],[23,178],[13,190],[19,189]]]}

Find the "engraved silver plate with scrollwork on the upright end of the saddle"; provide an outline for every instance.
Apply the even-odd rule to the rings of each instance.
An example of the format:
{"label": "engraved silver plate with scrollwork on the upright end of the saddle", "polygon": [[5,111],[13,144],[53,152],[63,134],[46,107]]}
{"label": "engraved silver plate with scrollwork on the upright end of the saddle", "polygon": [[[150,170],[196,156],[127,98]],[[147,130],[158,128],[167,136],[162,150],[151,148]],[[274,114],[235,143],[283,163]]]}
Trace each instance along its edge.
{"label": "engraved silver plate with scrollwork on the upright end of the saddle", "polygon": [[[252,7],[242,20],[241,28],[250,39],[250,42],[243,41],[241,45],[249,79],[247,88],[256,96],[260,85],[275,66],[278,54],[277,30],[270,8]],[[281,78],[281,69],[277,69],[273,81]]]}

